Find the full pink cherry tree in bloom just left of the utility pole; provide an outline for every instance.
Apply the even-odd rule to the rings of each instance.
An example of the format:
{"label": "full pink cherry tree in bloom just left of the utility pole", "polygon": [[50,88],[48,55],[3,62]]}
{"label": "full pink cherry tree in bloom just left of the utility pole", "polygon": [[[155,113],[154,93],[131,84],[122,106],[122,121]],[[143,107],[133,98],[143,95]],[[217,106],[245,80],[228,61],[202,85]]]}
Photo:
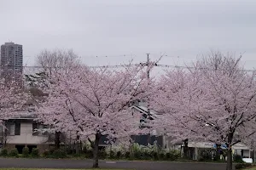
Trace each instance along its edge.
{"label": "full pink cherry tree in bloom just left of the utility pole", "polygon": [[133,101],[148,97],[151,81],[145,67],[124,65],[111,70],[78,66],[68,74],[60,73],[50,85],[38,117],[88,139],[93,148],[93,167],[98,167],[102,135],[110,141],[127,139],[139,130],[139,116],[132,115],[130,108]]}

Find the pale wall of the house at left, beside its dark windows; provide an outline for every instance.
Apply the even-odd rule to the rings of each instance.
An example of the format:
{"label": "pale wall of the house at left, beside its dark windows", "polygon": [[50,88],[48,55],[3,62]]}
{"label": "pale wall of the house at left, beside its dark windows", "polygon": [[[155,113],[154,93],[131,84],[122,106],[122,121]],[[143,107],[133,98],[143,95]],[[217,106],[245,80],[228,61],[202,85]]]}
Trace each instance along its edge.
{"label": "pale wall of the house at left, beside its dark windows", "polygon": [[47,141],[48,136],[33,136],[32,123],[20,123],[20,135],[8,136],[7,144],[43,144]]}

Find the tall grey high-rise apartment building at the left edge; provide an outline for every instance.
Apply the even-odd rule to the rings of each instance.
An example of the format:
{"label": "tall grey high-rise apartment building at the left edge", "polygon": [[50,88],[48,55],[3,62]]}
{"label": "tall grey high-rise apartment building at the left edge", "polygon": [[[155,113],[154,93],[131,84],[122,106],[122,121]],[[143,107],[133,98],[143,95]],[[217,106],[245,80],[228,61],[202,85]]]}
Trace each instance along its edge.
{"label": "tall grey high-rise apartment building at the left edge", "polygon": [[1,46],[1,75],[9,77],[22,75],[23,70],[23,50],[22,45],[14,42],[5,42]]}

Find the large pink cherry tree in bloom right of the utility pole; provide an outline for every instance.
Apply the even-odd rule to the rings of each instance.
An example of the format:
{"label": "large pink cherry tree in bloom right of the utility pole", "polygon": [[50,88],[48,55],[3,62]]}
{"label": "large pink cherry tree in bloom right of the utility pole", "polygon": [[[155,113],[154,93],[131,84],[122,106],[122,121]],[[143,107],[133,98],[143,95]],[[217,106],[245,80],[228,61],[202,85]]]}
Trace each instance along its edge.
{"label": "large pink cherry tree in bloom right of the utility pole", "polygon": [[155,124],[177,139],[226,144],[230,170],[232,146],[247,143],[256,132],[255,74],[232,54],[207,57],[161,77],[152,105],[163,115]]}

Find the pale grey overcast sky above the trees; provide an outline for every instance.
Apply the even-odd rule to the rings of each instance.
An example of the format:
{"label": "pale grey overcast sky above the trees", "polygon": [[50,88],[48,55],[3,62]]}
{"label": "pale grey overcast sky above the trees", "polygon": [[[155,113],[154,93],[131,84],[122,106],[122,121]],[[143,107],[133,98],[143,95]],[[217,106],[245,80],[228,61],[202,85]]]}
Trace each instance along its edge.
{"label": "pale grey overcast sky above the trees", "polygon": [[255,0],[0,0],[0,43],[22,44],[24,65],[44,48],[73,48],[87,65],[144,61],[147,53],[183,65],[213,48],[245,52],[253,68],[255,9]]}

